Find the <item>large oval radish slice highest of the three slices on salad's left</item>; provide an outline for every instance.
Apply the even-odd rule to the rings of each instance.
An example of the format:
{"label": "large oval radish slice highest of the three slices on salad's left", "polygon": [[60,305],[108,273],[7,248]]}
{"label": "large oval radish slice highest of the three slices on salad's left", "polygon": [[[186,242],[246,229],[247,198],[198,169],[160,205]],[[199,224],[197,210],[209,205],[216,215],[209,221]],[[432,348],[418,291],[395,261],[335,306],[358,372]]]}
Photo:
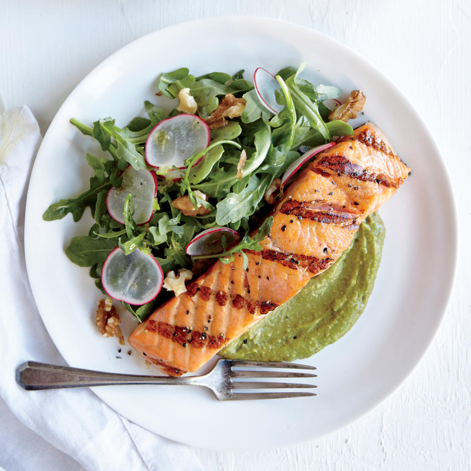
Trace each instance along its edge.
{"label": "large oval radish slice highest of the three slices on salad's left", "polygon": [[204,151],[210,140],[209,127],[200,117],[179,114],[160,121],[150,132],[146,161],[151,167],[185,168],[184,160]]}

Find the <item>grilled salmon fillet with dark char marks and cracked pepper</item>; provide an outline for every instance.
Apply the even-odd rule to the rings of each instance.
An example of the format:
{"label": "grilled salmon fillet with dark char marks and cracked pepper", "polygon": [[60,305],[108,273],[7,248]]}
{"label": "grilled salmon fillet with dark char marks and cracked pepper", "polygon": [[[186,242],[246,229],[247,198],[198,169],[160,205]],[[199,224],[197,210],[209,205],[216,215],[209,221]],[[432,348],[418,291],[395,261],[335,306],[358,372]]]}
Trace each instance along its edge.
{"label": "grilled salmon fillet with dark char marks and cracked pepper", "polygon": [[197,370],[332,265],[409,174],[382,131],[357,128],[288,187],[262,251],[245,250],[245,270],[240,254],[217,261],[138,325],[130,344],[167,374]]}

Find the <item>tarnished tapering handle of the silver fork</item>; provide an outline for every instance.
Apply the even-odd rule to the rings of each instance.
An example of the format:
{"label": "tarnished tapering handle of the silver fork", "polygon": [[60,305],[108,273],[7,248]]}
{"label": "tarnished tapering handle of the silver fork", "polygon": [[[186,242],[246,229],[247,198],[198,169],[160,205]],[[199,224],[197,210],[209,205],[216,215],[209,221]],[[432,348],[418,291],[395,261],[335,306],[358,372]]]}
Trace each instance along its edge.
{"label": "tarnished tapering handle of the silver fork", "polygon": [[16,368],[16,382],[27,391],[59,388],[85,388],[116,384],[196,385],[197,376],[172,378],[137,374],[106,373],[49,363],[25,362]]}

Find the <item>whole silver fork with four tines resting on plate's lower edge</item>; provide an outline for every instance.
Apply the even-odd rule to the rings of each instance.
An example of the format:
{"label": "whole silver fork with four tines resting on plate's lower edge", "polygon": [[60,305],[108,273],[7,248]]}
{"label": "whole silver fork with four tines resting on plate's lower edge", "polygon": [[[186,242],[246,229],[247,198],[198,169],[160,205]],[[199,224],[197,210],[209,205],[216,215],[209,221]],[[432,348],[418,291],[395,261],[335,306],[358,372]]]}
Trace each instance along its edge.
{"label": "whole silver fork with four tines resting on plate's lower edge", "polygon": [[[234,367],[240,369],[233,369]],[[315,396],[314,392],[240,392],[247,389],[316,388],[313,384],[252,382],[253,378],[313,378],[313,373],[298,371],[265,371],[264,368],[316,369],[315,366],[284,362],[249,362],[220,359],[202,376],[146,376],[138,374],[106,373],[90,369],[57,366],[48,363],[25,362],[16,368],[16,382],[28,391],[58,388],[84,388],[117,384],[167,384],[205,386],[220,401],[239,399],[277,399],[284,397]],[[250,369],[247,369],[250,368]],[[241,380],[239,380],[241,379]],[[235,381],[234,381],[235,380]],[[239,381],[237,381],[239,380]]]}

